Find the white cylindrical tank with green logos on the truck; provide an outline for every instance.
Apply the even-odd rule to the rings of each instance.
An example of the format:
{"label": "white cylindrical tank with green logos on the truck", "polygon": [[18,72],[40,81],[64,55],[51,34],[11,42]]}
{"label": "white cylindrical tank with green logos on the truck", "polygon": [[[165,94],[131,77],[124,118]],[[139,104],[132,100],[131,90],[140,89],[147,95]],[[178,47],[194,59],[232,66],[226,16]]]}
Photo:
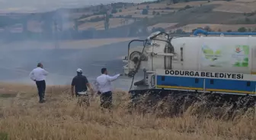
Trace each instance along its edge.
{"label": "white cylindrical tank with green logos on the truck", "polygon": [[[172,60],[174,70],[256,73],[255,36],[179,37],[171,39],[171,44],[177,53]],[[159,68],[159,61],[155,60],[155,69]]]}

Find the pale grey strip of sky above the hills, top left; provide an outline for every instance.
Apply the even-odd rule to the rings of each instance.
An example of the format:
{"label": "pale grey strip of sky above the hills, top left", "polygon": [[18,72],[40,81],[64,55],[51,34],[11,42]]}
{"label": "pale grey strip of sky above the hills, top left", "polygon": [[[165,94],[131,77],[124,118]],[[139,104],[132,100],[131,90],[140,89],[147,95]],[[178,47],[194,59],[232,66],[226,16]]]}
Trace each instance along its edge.
{"label": "pale grey strip of sky above the hills, top left", "polygon": [[154,0],[0,0],[1,12],[50,11],[56,8],[76,8],[114,2],[150,2]]}

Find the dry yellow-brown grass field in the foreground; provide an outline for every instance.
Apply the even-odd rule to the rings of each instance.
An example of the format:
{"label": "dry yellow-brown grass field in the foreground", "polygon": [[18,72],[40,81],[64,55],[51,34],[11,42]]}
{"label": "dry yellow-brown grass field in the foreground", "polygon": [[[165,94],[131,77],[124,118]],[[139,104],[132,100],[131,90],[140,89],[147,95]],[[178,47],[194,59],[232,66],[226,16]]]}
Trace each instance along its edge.
{"label": "dry yellow-brown grass field in the foreground", "polygon": [[78,107],[69,97],[69,86],[48,87],[45,104],[37,103],[34,86],[1,83],[0,88],[0,133],[8,134],[10,140],[256,138],[252,112],[236,115],[232,121],[210,117],[214,112],[210,108],[206,108],[211,110],[208,115],[195,114],[198,107],[190,107],[179,117],[163,116],[159,109],[128,114],[127,93],[117,91],[111,114],[101,111],[98,97],[90,107]]}

